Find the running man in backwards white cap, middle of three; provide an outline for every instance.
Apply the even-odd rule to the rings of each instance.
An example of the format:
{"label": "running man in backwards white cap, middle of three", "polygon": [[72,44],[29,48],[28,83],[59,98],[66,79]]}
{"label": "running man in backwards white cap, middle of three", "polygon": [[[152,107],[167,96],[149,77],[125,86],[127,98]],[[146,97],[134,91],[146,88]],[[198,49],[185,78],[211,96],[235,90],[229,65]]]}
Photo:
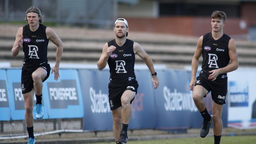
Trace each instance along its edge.
{"label": "running man in backwards white cap, middle of three", "polygon": [[107,63],[110,69],[109,105],[117,144],[127,143],[131,104],[139,86],[134,73],[135,54],[148,66],[154,89],[159,85],[151,58],[137,42],[126,39],[128,31],[128,22],[124,18],[118,18],[114,24],[115,39],[104,44],[97,63],[99,70],[104,69]]}

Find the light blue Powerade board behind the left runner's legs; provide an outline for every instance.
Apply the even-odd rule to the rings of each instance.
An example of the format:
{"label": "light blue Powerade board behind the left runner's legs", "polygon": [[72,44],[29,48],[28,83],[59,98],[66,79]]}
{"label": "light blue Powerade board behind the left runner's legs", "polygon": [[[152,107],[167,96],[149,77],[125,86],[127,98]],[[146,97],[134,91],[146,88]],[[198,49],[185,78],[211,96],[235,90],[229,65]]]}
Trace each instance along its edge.
{"label": "light blue Powerade board behind the left runner's legs", "polygon": [[[24,98],[21,90],[21,69],[11,69],[7,70],[7,79],[9,83],[9,94],[11,105],[11,116],[12,120],[24,120],[25,107],[24,107]],[[43,92],[45,94],[45,92]],[[35,95],[33,96],[33,104],[35,105],[36,99]],[[43,95],[43,110],[44,117],[43,119],[48,118],[48,111],[45,109],[45,96]],[[33,107],[35,109],[35,106]],[[33,112],[33,117],[35,119],[35,114]]]}

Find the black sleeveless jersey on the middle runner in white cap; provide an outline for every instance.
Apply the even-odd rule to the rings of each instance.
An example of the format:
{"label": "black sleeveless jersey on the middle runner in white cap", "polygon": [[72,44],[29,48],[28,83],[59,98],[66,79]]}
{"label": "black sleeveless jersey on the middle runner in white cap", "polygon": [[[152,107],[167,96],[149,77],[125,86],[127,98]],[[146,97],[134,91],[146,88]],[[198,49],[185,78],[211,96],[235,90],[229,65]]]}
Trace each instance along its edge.
{"label": "black sleeveless jersey on the middle runner in white cap", "polygon": [[119,46],[115,42],[115,39],[108,42],[108,46],[115,46],[116,49],[108,58],[110,83],[128,83],[129,81],[135,81],[134,73],[134,41],[126,39],[126,42]]}

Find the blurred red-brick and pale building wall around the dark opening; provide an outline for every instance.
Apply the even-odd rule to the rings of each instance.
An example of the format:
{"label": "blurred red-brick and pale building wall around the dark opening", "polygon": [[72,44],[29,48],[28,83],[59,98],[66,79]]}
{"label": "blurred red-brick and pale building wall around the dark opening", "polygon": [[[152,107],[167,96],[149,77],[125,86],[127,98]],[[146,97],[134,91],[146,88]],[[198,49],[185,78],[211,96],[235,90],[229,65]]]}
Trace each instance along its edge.
{"label": "blurred red-brick and pale building wall around the dark opening", "polygon": [[[211,31],[211,17],[168,16],[158,17],[158,2],[154,0],[141,0],[134,6],[119,4],[119,17],[128,20],[130,31],[146,31],[155,33],[169,33],[178,35],[200,36]],[[239,35],[249,33],[250,27],[256,26],[256,3],[241,3],[239,18],[227,15],[224,33]]]}

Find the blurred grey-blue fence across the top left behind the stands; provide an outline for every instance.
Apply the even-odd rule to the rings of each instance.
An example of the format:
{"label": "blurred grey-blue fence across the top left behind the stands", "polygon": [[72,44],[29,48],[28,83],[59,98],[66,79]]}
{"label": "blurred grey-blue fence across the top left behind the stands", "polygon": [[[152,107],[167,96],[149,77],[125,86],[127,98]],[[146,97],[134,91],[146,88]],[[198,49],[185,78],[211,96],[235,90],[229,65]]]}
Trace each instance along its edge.
{"label": "blurred grey-blue fence across the top left behind the stands", "polygon": [[0,21],[24,21],[26,10],[36,6],[44,21],[112,28],[118,0],[0,0]]}

